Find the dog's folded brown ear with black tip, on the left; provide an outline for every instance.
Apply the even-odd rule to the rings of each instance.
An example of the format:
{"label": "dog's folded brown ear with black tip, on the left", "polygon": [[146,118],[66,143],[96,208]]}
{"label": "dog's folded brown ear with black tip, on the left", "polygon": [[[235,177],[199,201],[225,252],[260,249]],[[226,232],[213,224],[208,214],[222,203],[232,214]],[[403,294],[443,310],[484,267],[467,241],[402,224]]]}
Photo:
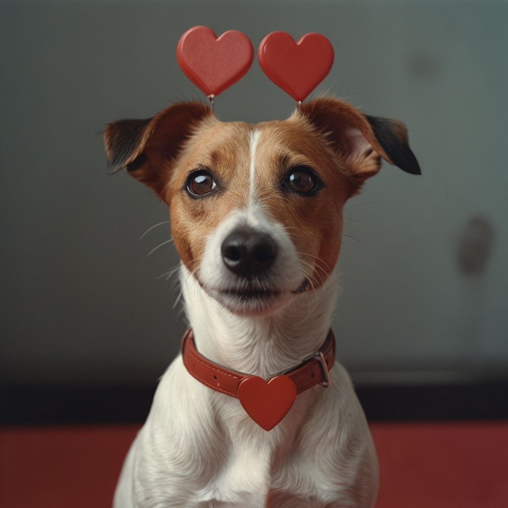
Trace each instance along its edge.
{"label": "dog's folded brown ear with black tip, on the left", "polygon": [[129,174],[162,197],[171,163],[184,141],[211,109],[199,102],[176,103],[144,120],[118,120],[104,131],[108,172]]}

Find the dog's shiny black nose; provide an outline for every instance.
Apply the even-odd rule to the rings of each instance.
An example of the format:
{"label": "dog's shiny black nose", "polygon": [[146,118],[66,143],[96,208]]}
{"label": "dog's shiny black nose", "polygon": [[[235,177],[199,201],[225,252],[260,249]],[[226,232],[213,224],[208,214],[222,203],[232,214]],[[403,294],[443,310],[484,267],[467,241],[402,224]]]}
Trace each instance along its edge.
{"label": "dog's shiny black nose", "polygon": [[224,264],[244,277],[268,270],[276,252],[275,242],[270,235],[248,227],[233,230],[220,248]]}

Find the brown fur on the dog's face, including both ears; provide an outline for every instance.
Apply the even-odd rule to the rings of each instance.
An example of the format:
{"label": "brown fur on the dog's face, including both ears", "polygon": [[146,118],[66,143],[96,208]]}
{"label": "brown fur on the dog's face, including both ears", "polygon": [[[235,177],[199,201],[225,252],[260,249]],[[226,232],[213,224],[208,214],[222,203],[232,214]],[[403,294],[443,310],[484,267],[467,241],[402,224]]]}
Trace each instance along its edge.
{"label": "brown fur on the dog's face, including both ears", "polygon": [[[182,261],[192,270],[205,239],[221,219],[245,207],[251,193],[250,140],[259,133],[256,199],[292,234],[300,252],[321,260],[323,281],[340,248],[342,207],[384,158],[420,174],[405,126],[367,116],[331,97],[304,103],[287,120],[250,125],[220,122],[200,103],[177,103],[153,118],[120,120],[105,131],[110,171],[127,168],[170,207],[171,229]],[[320,180],[313,196],[284,190],[291,168],[310,168]],[[205,199],[186,190],[189,174],[206,168],[216,189]]]}

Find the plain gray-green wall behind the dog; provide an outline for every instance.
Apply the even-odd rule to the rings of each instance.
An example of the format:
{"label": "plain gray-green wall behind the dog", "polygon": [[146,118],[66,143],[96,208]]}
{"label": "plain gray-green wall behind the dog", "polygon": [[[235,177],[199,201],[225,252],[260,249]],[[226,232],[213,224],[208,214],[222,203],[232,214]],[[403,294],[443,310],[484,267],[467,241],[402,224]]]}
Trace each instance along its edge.
{"label": "plain gray-green wall behind the dog", "polygon": [[[334,328],[357,382],[503,376],[508,366],[505,2],[12,2],[2,53],[2,382],[154,384],[184,328],[168,219],[106,175],[101,131],[201,97],[176,65],[185,29],[320,31],[336,61],[318,91],[407,123],[423,169],[385,165],[347,205]],[[287,117],[257,63],[216,101],[223,120]],[[466,224],[492,249],[459,269]],[[482,233],[482,232],[480,232]],[[474,231],[470,232],[474,235]],[[474,254],[474,252],[473,252]]]}

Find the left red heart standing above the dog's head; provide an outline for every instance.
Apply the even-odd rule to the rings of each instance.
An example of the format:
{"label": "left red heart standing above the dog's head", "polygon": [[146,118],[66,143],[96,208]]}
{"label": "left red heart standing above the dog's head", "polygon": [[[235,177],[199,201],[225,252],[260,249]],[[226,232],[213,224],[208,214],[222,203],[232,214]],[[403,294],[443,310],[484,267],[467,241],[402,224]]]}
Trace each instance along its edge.
{"label": "left red heart standing above the dog's head", "polygon": [[217,96],[236,83],[252,65],[249,38],[237,30],[219,38],[206,26],[194,26],[182,35],[176,48],[181,70],[207,96]]}

